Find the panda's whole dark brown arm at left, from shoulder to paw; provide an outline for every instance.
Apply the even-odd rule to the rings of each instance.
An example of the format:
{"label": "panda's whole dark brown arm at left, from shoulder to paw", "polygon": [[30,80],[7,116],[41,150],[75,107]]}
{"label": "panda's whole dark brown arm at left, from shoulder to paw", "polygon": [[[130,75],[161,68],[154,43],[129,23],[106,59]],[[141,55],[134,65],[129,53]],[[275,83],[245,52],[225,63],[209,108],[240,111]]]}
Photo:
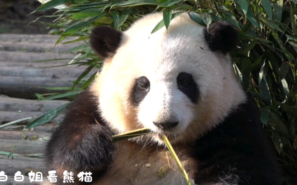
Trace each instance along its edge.
{"label": "panda's whole dark brown arm at left, from shoulder to paw", "polygon": [[97,172],[96,176],[100,176],[110,164],[112,133],[97,110],[96,98],[88,90],[84,91],[72,102],[63,121],[53,131],[45,158],[48,170],[56,170],[58,179],[63,179],[64,170],[72,171],[74,176],[81,171]]}

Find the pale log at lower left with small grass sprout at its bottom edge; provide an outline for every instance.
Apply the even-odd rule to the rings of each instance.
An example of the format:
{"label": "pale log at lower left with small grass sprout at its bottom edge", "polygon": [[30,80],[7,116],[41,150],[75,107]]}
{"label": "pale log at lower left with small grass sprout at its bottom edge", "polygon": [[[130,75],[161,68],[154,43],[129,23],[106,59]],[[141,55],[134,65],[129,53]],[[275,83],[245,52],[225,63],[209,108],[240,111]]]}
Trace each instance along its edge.
{"label": "pale log at lower left with small grass sprout at its bottom edge", "polygon": [[40,140],[0,139],[0,148],[5,152],[35,154],[44,152],[44,143]]}

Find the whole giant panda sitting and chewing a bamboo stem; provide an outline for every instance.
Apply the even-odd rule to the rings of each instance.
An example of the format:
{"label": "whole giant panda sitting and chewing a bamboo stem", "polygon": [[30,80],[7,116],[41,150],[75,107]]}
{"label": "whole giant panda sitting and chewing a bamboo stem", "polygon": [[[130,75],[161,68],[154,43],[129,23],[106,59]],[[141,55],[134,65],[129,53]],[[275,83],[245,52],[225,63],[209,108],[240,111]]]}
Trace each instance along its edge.
{"label": "whole giant panda sitting and chewing a bamboo stem", "polygon": [[[81,171],[92,173],[94,185],[186,185],[166,134],[193,185],[279,185],[257,107],[228,54],[235,29],[226,22],[206,29],[182,13],[151,34],[162,18],[146,15],[124,32],[93,29],[102,71],[53,131],[45,158],[58,179],[44,184],[64,184],[67,170],[75,185],[86,184]],[[140,128],[154,134],[112,142],[113,134]]]}

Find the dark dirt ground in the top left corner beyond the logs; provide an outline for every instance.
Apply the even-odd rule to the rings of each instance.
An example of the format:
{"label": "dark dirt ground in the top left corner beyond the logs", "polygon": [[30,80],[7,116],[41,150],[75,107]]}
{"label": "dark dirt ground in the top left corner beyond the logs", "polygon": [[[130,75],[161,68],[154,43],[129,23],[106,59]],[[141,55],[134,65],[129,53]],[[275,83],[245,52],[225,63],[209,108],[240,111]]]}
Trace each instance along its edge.
{"label": "dark dirt ground in the top left corner beyond the logs", "polygon": [[[50,31],[48,26],[33,22],[43,15],[52,15],[56,10],[35,12],[41,5],[37,0],[0,0],[0,34],[1,33],[23,33],[23,34],[45,34]],[[44,22],[53,22],[53,18],[41,17]],[[29,25],[28,25],[29,24]]]}

